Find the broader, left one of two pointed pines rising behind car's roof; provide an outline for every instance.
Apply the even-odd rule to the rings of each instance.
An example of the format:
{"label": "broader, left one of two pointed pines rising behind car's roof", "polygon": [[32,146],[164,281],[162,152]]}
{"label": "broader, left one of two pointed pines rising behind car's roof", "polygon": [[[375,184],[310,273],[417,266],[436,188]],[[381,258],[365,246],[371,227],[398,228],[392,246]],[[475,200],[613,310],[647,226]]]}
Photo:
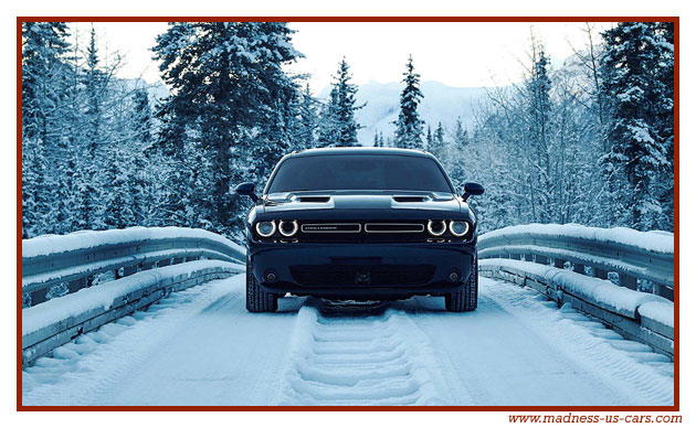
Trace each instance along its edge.
{"label": "broader, left one of two pointed pines rising behind car's roof", "polygon": [[350,83],[350,66],[344,57],[331,83],[328,101],[321,108],[318,147],[351,147],[358,145],[355,113],[365,105],[356,106],[358,87]]}

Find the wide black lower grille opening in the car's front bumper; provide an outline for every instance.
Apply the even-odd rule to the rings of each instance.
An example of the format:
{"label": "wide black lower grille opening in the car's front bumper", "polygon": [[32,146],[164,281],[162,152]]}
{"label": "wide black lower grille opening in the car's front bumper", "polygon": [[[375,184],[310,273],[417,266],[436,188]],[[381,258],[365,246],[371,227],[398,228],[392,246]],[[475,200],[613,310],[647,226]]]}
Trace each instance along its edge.
{"label": "wide black lower grille opening in the car's front bumper", "polygon": [[433,278],[432,265],[298,265],[291,267],[293,279],[303,286],[420,286]]}

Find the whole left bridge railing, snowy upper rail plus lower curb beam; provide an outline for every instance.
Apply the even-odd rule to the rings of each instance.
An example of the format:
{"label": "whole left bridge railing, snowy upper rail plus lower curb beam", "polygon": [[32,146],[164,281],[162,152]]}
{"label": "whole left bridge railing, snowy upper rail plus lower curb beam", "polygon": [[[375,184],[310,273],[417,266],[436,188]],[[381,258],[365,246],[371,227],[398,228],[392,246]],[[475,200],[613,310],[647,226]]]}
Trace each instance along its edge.
{"label": "whole left bridge railing, snowy upper rail plus lower curb beam", "polygon": [[[203,258],[203,259],[202,259]],[[172,291],[244,270],[244,250],[211,232],[133,227],[22,242],[22,366]],[[113,271],[114,280],[92,285]],[[48,299],[61,283],[67,293]],[[80,292],[76,292],[80,291]]]}

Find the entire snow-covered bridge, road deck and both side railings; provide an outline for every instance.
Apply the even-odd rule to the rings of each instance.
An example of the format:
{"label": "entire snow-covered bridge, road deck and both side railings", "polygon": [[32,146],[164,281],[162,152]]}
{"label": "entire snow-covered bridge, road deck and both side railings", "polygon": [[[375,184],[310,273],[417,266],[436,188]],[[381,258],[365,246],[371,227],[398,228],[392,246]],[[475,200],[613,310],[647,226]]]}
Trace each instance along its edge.
{"label": "entire snow-covered bridge, road deck and both side railings", "polygon": [[478,309],[244,309],[244,252],[131,228],[22,245],[24,405],[672,405],[672,234],[479,238]]}

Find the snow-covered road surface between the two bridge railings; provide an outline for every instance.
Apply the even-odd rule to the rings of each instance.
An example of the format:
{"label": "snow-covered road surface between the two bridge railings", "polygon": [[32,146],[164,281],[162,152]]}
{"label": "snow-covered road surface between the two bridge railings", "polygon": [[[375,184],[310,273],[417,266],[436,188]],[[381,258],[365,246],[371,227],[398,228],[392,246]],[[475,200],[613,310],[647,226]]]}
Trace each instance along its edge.
{"label": "snow-covered road surface between the two bridge railings", "polygon": [[481,279],[361,310],[244,310],[244,276],[178,292],[23,373],[24,405],[672,405],[673,364],[531,290]]}

